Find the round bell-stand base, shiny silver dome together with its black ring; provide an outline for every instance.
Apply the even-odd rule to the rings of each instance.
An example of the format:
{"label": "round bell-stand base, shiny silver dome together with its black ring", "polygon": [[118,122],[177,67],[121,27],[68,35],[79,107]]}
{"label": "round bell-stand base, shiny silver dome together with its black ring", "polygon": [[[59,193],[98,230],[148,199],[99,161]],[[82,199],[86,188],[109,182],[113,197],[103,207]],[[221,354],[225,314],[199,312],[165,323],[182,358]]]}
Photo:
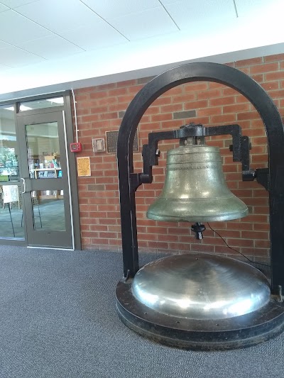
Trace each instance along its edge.
{"label": "round bell-stand base, shiny silver dome together with its black ring", "polygon": [[245,348],[284,330],[284,302],[258,269],[226,257],[165,257],[116,286],[121,320],[139,335],[175,348]]}

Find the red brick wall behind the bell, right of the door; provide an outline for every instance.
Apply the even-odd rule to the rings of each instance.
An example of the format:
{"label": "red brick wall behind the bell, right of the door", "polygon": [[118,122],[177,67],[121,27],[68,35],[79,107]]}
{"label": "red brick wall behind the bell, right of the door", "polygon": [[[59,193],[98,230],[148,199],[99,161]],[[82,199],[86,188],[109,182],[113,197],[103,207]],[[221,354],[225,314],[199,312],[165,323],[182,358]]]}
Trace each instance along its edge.
{"label": "red brick wall behind the bell, right of the door", "polygon": [[[284,54],[258,57],[229,65],[246,72],[261,84],[275,101],[281,116],[284,116]],[[107,152],[94,153],[92,138],[105,138],[106,131],[119,130],[124,111],[148,79],[75,91],[79,140],[83,145],[83,151],[77,156],[90,156],[92,168],[92,177],[78,179],[84,249],[121,250],[116,155]],[[140,152],[134,152],[133,157],[136,172],[142,172],[141,146],[147,143],[148,133],[155,130],[174,130],[190,122],[203,123],[204,126],[239,123],[243,135],[251,138],[251,167],[256,169],[267,166],[265,129],[249,101],[229,87],[194,82],[166,92],[144,114],[138,127]],[[257,182],[241,181],[241,164],[233,162],[229,152],[231,140],[220,136],[207,143],[219,146],[226,182],[231,191],[249,206],[249,216],[246,218],[211,222],[210,226],[222,235],[231,248],[258,261],[267,260],[270,243],[266,190]],[[191,223],[157,222],[146,218],[148,205],[163,187],[165,151],[173,146],[173,141],[160,143],[162,153],[158,167],[153,167],[153,184],[144,184],[136,192],[139,250],[204,251],[237,255],[209,227],[204,232],[204,239],[200,241],[195,240],[192,235]]]}

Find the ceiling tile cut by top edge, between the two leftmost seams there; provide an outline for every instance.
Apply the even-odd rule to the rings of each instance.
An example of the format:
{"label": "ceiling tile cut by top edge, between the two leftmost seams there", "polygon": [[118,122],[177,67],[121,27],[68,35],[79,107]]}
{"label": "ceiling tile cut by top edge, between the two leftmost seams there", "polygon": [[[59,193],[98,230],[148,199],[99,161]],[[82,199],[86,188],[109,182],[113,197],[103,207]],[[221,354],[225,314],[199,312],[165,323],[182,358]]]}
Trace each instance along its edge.
{"label": "ceiling tile cut by top edge, between the two leftmost seams there", "polygon": [[146,9],[152,9],[160,6],[160,2],[158,0],[82,0],[82,2],[87,4],[87,6],[92,8],[99,14],[99,16],[102,16],[102,18],[106,20],[126,16],[130,13],[146,11]]}

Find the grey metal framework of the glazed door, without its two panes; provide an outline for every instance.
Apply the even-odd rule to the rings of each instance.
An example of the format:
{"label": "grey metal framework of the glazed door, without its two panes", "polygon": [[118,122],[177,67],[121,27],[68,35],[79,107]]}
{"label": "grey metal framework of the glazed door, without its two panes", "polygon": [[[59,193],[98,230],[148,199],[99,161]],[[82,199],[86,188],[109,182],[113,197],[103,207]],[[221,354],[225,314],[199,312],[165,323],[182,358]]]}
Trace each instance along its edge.
{"label": "grey metal framework of the glazed door, without its two panes", "polygon": [[[30,169],[28,167],[28,143],[26,139],[26,126],[36,128],[42,124],[56,123],[58,129],[58,142],[60,151],[60,162],[62,168],[62,178],[36,179],[30,177]],[[70,209],[69,195],[69,177],[67,174],[67,157],[65,147],[65,118],[62,111],[54,111],[48,113],[38,113],[36,115],[21,116],[17,120],[18,124],[18,145],[20,153],[21,179],[23,180],[24,190],[22,191],[23,218],[26,228],[26,239],[28,246],[51,246],[53,248],[74,249],[74,235],[72,233],[72,218]],[[38,133],[36,133],[38,134]],[[64,219],[65,230],[56,230],[56,228],[46,229],[42,226],[43,213],[40,216],[41,202],[38,203],[38,216],[40,216],[41,228],[35,228],[35,208],[31,193],[35,191],[64,191]],[[40,198],[38,196],[38,202]],[[51,225],[52,226],[52,225]],[[49,228],[49,227],[48,227]],[[50,243],[52,243],[50,245]]]}

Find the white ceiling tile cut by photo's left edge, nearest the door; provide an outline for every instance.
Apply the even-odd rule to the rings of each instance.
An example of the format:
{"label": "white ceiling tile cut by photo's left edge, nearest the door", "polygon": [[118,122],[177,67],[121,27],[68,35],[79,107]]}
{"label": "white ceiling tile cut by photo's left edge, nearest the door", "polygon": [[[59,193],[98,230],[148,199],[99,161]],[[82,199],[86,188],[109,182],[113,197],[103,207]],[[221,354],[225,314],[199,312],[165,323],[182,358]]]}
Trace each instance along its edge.
{"label": "white ceiling tile cut by photo's left edge, nearest the door", "polygon": [[0,65],[8,65],[10,67],[21,67],[23,65],[33,65],[34,63],[44,62],[42,57],[21,50],[20,48],[4,48],[1,49]]}

